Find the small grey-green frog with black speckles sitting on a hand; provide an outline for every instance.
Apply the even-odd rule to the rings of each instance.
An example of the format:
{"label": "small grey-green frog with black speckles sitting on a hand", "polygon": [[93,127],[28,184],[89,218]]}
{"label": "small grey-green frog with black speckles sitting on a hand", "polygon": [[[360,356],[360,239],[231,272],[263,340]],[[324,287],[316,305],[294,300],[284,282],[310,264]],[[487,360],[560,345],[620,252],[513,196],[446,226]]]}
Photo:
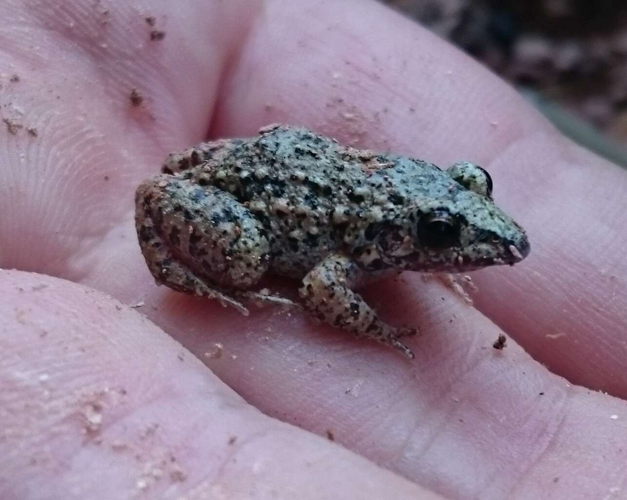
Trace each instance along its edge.
{"label": "small grey-green frog with black speckles sitting on a hand", "polygon": [[201,143],[137,189],[135,224],[159,284],[219,299],[292,305],[253,291],[265,273],[302,280],[302,306],[330,325],[414,355],[416,332],[381,321],[354,289],[401,271],[461,272],[529,254],[492,202],[492,180],[460,162],[344,147],[304,128]]}

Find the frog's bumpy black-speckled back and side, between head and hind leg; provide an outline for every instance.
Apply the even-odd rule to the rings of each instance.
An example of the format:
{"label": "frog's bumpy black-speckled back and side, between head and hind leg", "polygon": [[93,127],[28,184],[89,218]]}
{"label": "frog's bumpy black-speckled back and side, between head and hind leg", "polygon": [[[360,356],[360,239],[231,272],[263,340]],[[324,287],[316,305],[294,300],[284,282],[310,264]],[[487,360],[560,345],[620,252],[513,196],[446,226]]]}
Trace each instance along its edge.
{"label": "frog's bumpy black-speckled back and side, between head and hind leg", "polygon": [[442,173],[297,127],[269,127],[216,153],[194,175],[209,176],[255,214],[268,231],[273,270],[295,278],[327,254],[354,247],[370,222],[396,216],[419,195],[414,182]]}

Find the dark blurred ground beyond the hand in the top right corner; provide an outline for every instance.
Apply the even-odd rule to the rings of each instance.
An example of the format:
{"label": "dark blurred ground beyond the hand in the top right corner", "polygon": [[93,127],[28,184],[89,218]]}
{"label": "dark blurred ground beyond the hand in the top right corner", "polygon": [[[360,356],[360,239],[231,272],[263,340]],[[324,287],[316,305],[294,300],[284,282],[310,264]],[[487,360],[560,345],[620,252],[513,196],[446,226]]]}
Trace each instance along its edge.
{"label": "dark blurred ground beyond the hand in the top right corner", "polygon": [[626,0],[383,0],[515,85],[562,132],[627,165]]}

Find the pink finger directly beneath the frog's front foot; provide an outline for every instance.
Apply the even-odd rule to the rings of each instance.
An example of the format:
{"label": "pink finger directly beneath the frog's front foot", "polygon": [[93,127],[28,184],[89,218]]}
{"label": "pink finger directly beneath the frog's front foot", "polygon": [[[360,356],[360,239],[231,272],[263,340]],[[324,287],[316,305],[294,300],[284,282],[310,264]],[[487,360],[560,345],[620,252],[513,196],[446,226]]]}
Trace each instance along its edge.
{"label": "pink finger directly beneath the frog's front foot", "polygon": [[502,331],[443,287],[401,278],[366,298],[395,325],[411,311],[415,360],[290,313],[208,320],[199,303],[157,304],[166,331],[184,328],[251,404],[444,496],[586,499],[621,487],[623,400],[570,385],[510,338],[495,350]]}

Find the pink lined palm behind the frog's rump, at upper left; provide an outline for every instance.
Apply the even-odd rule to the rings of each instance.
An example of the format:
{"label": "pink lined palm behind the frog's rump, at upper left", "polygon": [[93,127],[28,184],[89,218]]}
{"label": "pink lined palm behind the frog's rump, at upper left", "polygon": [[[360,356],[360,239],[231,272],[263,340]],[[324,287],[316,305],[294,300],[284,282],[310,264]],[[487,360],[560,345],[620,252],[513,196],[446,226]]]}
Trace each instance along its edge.
{"label": "pink lined palm behind the frog's rump, at upper left", "polygon": [[[137,276],[135,187],[167,152],[203,138],[228,55],[258,10],[173,6],[0,4],[11,68],[0,76],[3,267],[111,287],[112,268],[132,254],[124,274]],[[121,274],[119,291],[131,289]]]}

